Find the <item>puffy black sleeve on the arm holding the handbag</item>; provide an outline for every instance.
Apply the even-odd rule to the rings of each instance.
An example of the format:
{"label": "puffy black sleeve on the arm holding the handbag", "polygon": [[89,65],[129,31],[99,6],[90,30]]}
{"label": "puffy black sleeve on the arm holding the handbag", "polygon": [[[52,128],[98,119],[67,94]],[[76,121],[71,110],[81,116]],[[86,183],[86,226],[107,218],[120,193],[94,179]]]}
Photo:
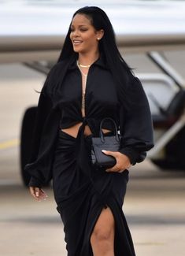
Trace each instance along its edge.
{"label": "puffy black sleeve on the arm holding the handbag", "polygon": [[120,108],[120,153],[130,158],[131,164],[146,158],[146,151],[154,147],[150,106],[140,80],[133,76],[129,85],[131,103]]}

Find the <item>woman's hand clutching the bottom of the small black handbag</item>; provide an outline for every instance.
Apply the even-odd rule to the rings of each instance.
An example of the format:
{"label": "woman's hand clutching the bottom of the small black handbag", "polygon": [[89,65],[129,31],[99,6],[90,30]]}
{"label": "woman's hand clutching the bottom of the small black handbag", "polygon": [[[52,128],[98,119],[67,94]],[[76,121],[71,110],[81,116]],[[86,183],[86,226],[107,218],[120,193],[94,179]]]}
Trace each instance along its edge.
{"label": "woman's hand clutching the bottom of the small black handbag", "polygon": [[122,173],[125,169],[128,169],[131,167],[131,161],[125,154],[122,154],[120,152],[114,152],[114,151],[108,151],[108,150],[102,150],[104,154],[112,155],[114,158],[116,158],[117,163],[110,169],[106,169],[106,172],[115,172],[115,173]]}

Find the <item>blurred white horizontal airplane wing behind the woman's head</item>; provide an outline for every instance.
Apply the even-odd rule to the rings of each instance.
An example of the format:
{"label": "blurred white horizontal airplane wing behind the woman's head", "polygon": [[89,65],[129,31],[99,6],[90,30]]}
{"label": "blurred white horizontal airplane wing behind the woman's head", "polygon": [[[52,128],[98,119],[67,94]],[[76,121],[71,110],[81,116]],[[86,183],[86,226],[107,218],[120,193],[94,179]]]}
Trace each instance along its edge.
{"label": "blurred white horizontal airplane wing behind the woman's head", "polygon": [[[107,0],[93,5],[108,14],[124,53],[185,49],[185,2]],[[2,2],[0,63],[56,61],[72,14],[81,6],[87,2]]]}

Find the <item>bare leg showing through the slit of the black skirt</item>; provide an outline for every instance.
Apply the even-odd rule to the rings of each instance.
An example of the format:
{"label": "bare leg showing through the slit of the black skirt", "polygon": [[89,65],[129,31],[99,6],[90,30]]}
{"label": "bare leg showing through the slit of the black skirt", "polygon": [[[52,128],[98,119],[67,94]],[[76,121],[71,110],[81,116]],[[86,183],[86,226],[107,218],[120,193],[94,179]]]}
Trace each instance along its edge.
{"label": "bare leg showing through the slit of the black skirt", "polygon": [[112,211],[103,209],[91,235],[94,256],[114,256],[114,226]]}

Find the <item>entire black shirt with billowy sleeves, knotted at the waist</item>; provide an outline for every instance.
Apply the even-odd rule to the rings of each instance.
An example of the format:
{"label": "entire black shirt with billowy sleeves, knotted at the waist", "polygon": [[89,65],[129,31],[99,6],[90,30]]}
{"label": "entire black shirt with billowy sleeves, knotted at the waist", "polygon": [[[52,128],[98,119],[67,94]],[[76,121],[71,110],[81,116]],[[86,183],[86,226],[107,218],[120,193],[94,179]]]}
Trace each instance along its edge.
{"label": "entire black shirt with billowy sleeves, knotted at the waist", "polygon": [[[124,98],[120,100],[118,97],[110,69],[99,58],[88,72],[85,117],[82,117],[82,79],[76,60],[70,65],[65,61],[54,65],[39,97],[31,163],[25,167],[32,176],[30,185],[41,186],[52,178],[54,147],[60,128],[82,122],[76,139],[79,147],[83,147],[85,125],[89,125],[97,136],[103,117],[113,118],[120,130],[123,140],[119,151],[126,154],[132,164],[142,161],[146,150],[154,146],[150,107],[137,77],[131,76],[129,87],[132,91],[131,106],[125,108]],[[110,125],[107,122],[103,128],[111,129]],[[83,158],[83,154],[79,157]]]}

